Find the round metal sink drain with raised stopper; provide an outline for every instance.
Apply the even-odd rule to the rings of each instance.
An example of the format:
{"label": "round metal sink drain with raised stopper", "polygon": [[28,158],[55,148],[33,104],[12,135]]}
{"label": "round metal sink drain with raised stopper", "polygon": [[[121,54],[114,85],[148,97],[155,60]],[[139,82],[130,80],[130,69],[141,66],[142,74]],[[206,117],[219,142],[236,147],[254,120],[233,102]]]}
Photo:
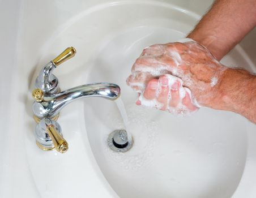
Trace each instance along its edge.
{"label": "round metal sink drain with raised stopper", "polygon": [[133,146],[133,137],[126,130],[115,130],[108,136],[108,146],[116,152],[126,152]]}

